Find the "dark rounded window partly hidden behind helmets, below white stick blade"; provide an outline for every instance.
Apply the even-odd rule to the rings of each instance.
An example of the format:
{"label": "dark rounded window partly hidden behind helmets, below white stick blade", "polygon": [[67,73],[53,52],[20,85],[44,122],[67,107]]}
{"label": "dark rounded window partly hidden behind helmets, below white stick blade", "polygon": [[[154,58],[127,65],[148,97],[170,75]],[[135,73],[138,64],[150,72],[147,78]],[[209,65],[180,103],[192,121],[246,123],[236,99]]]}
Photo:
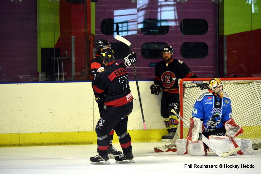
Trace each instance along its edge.
{"label": "dark rounded window partly hidden behind helmets, below white stick blade", "polygon": [[111,49],[114,52],[115,59],[123,59],[129,55],[130,49],[129,47],[122,42],[111,43]]}

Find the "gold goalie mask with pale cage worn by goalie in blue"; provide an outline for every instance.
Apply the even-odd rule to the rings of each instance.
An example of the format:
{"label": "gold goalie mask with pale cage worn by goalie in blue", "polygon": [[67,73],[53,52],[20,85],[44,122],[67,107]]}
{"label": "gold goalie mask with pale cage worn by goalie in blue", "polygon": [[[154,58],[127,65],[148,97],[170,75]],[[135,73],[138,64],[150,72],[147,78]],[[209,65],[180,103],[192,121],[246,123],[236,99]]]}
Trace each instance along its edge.
{"label": "gold goalie mask with pale cage worn by goalie in blue", "polygon": [[212,78],[209,81],[209,92],[217,97],[223,97],[223,82],[219,78]]}

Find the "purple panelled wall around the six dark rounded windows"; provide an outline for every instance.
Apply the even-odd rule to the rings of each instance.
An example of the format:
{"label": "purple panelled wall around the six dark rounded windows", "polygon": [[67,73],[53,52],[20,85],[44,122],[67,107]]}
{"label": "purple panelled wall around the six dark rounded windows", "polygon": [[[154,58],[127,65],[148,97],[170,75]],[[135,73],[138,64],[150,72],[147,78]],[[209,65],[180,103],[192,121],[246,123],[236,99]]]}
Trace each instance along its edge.
{"label": "purple panelled wall around the six dark rounded windows", "polygon": [[[96,3],[96,40],[105,38],[109,42],[118,42],[113,36],[103,35],[100,31],[100,24],[106,18],[118,18],[128,20],[129,24],[133,23],[129,35],[123,36],[132,43],[133,50],[137,53],[138,61],[137,75],[139,80],[154,79],[154,68],[149,67],[149,63],[158,62],[162,59],[144,59],[141,56],[140,48],[145,42],[165,42],[174,48],[175,59],[184,61],[191,70],[199,77],[213,77],[217,75],[217,4],[209,0],[200,2],[188,0],[187,2],[155,0],[142,1],[141,3],[132,3],[129,0],[105,1],[99,0]],[[136,13],[138,7],[138,14]],[[132,9],[132,10],[129,10]],[[118,14],[117,10],[119,11]],[[138,28],[137,28],[138,18]],[[140,30],[140,24],[144,19],[156,18],[167,19],[172,24],[166,35],[147,36]],[[182,35],[180,31],[180,23],[183,19],[205,19],[208,23],[208,32],[205,35]],[[136,28],[135,28],[136,26]],[[137,33],[137,34],[136,34]],[[185,59],[180,54],[180,46],[183,42],[205,42],[208,45],[209,53],[203,59]],[[118,61],[118,60],[117,60]],[[118,61],[120,62],[120,61]],[[130,79],[134,78],[132,68],[128,71]]]}

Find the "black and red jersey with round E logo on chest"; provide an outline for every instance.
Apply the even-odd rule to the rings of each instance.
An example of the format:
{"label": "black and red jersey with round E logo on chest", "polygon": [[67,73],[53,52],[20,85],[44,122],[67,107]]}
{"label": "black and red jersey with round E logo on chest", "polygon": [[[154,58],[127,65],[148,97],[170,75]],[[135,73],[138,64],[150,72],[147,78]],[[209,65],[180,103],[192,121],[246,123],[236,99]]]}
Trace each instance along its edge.
{"label": "black and red jersey with round E logo on chest", "polygon": [[154,83],[170,93],[179,93],[180,78],[197,78],[183,61],[177,59],[171,59],[168,64],[164,60],[159,61],[155,66],[155,75]]}

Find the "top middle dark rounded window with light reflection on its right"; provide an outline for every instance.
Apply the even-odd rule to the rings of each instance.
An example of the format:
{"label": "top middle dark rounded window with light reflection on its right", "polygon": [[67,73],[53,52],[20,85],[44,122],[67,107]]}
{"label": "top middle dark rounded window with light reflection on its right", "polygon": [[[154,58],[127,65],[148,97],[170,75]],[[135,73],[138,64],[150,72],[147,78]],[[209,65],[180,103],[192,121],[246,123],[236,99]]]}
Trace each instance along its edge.
{"label": "top middle dark rounded window with light reflection on its right", "polygon": [[141,32],[144,35],[165,35],[169,31],[169,23],[165,19],[144,19],[142,24]]}

